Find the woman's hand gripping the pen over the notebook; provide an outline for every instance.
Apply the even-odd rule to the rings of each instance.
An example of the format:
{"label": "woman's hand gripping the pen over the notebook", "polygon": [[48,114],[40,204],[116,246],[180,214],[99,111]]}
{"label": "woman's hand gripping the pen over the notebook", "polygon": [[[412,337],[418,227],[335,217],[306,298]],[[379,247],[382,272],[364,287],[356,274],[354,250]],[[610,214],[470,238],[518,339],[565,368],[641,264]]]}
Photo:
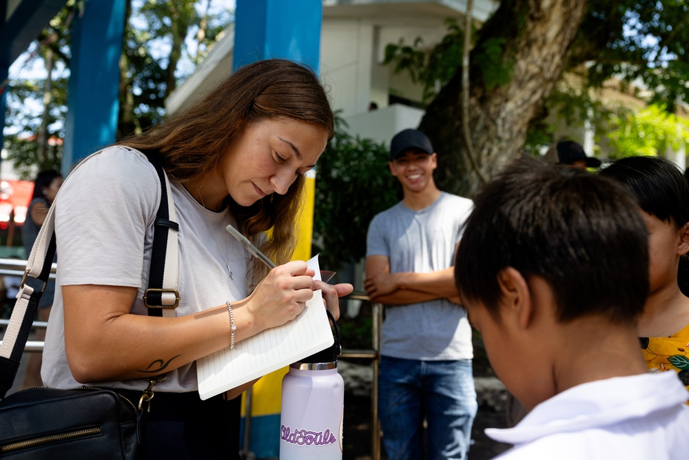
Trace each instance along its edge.
{"label": "woman's hand gripping the pen over the notebook", "polygon": [[247,299],[256,326],[265,330],[296,318],[313,297],[314,274],[304,261],[287,262],[271,270]]}

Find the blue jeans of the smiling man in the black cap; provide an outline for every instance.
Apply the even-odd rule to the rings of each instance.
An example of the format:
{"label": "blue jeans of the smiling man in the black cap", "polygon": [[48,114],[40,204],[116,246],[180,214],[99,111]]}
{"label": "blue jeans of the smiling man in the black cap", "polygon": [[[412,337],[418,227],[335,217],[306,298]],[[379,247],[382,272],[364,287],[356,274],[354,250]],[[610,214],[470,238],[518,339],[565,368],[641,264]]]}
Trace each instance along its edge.
{"label": "blue jeans of the smiling man in the black cap", "polygon": [[383,356],[378,414],[389,460],[466,459],[476,417],[471,359],[418,361]]}

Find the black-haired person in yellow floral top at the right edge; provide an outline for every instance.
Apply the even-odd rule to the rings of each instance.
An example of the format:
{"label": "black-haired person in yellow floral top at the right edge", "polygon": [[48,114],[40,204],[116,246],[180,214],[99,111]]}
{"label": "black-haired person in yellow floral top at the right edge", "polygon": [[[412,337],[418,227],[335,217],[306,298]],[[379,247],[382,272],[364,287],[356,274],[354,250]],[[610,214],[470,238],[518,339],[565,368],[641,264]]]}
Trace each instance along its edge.
{"label": "black-haired person in yellow floral top at the right edge", "polygon": [[686,268],[689,252],[689,185],[675,163],[661,157],[627,157],[599,175],[632,192],[648,227],[650,290],[639,318],[644,361],[651,372],[677,372],[689,390],[689,297]]}

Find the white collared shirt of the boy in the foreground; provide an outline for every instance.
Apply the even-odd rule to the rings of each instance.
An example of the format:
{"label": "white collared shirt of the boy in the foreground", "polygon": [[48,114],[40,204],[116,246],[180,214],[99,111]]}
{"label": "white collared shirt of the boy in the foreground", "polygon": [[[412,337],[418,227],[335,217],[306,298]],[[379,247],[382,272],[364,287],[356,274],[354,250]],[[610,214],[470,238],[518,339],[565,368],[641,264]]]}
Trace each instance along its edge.
{"label": "white collared shirt of the boy in the foreground", "polygon": [[615,377],[570,388],[514,428],[487,428],[486,434],[515,445],[500,460],[686,460],[687,399],[675,372]]}

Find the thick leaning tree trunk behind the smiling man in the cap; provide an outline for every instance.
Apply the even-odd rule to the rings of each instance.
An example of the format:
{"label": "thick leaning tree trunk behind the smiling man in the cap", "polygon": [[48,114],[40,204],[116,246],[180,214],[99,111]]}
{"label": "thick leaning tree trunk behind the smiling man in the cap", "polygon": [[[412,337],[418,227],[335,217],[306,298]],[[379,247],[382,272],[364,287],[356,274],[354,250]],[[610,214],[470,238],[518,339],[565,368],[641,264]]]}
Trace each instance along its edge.
{"label": "thick leaning tree trunk behind the smiling man in the cap", "polygon": [[[483,177],[522,154],[529,123],[562,74],[584,12],[583,0],[503,0],[480,30],[471,52],[469,126]],[[495,46],[502,46],[502,64],[491,64],[486,52]],[[488,76],[491,65],[493,74],[498,66],[500,84]],[[429,105],[420,129],[438,152],[440,188],[471,197],[481,183],[462,138],[461,73]]]}

